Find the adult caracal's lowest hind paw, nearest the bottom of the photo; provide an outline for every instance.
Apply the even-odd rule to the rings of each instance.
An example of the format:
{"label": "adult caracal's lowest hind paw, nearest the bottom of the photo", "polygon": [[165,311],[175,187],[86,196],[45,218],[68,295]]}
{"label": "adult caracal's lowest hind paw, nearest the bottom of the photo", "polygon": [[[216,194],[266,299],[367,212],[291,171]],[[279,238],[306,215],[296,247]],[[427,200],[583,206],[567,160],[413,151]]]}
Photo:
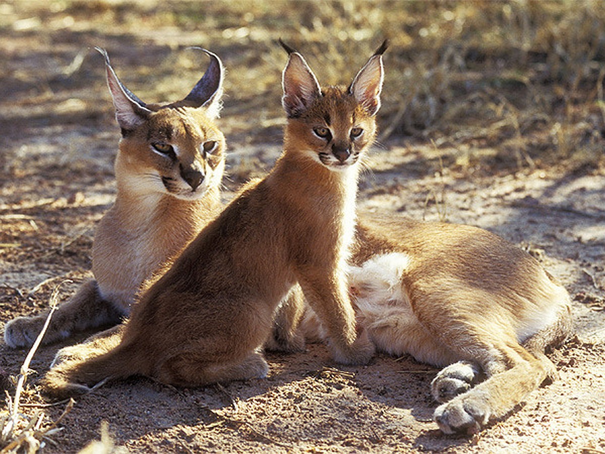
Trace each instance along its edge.
{"label": "adult caracal's lowest hind paw, nearest the bottom of the photo", "polygon": [[435,409],[433,419],[443,433],[477,433],[488,423],[491,410],[482,396],[461,395]]}

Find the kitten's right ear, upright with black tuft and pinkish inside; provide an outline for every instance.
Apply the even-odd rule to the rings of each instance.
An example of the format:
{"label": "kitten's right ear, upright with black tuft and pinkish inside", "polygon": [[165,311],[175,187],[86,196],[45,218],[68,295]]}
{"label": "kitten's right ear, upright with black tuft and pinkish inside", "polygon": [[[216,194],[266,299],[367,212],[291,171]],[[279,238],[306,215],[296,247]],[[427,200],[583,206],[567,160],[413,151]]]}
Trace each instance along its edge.
{"label": "kitten's right ear, upright with black tuft and pinkish inside", "polygon": [[382,67],[382,54],[387,50],[388,41],[382,43],[381,47],[374,52],[368,62],[353,79],[348,92],[355,96],[355,99],[364,110],[374,116],[378,112],[381,102],[380,94],[382,91],[382,82],[384,81],[384,68]]}

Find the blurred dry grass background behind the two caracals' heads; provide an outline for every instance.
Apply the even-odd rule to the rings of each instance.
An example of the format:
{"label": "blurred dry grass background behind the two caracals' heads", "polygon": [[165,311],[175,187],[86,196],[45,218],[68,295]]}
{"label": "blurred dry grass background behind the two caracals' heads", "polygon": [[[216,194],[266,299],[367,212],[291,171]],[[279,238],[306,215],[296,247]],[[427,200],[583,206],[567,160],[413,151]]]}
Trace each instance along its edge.
{"label": "blurred dry grass background behind the two caracals' heads", "polygon": [[279,143],[280,37],[322,84],[350,82],[390,40],[387,145],[430,143],[442,165],[479,173],[605,165],[602,0],[2,2],[0,136],[53,112],[113,122],[96,45],[148,102],[189,91],[207,63],[186,50],[198,45],[227,67],[227,139]]}

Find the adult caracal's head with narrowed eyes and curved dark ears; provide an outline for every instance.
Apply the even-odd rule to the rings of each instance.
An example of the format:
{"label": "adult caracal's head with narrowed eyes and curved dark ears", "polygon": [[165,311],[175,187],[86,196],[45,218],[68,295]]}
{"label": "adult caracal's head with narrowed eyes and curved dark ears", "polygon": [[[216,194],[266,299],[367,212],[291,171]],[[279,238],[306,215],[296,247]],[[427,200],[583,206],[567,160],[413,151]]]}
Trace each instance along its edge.
{"label": "adult caracal's head with narrowed eyes and curved dark ears", "polygon": [[215,126],[223,93],[223,65],[214,53],[204,76],[184,99],[145,104],[116,76],[107,53],[107,85],[122,129],[116,158],[118,190],[149,196],[167,194],[197,200],[218,189],[225,140]]}

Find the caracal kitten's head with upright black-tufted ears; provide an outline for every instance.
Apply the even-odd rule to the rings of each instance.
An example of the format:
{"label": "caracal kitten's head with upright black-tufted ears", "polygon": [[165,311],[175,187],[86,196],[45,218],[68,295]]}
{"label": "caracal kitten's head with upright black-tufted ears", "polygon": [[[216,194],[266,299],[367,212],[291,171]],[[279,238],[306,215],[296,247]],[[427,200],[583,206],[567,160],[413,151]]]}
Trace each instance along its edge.
{"label": "caracal kitten's head with upright black-tufted ears", "polygon": [[288,116],[286,147],[333,171],[359,161],[376,136],[381,102],[385,41],[347,87],[319,87],[302,55],[281,42],[289,54],[283,73],[282,104]]}

